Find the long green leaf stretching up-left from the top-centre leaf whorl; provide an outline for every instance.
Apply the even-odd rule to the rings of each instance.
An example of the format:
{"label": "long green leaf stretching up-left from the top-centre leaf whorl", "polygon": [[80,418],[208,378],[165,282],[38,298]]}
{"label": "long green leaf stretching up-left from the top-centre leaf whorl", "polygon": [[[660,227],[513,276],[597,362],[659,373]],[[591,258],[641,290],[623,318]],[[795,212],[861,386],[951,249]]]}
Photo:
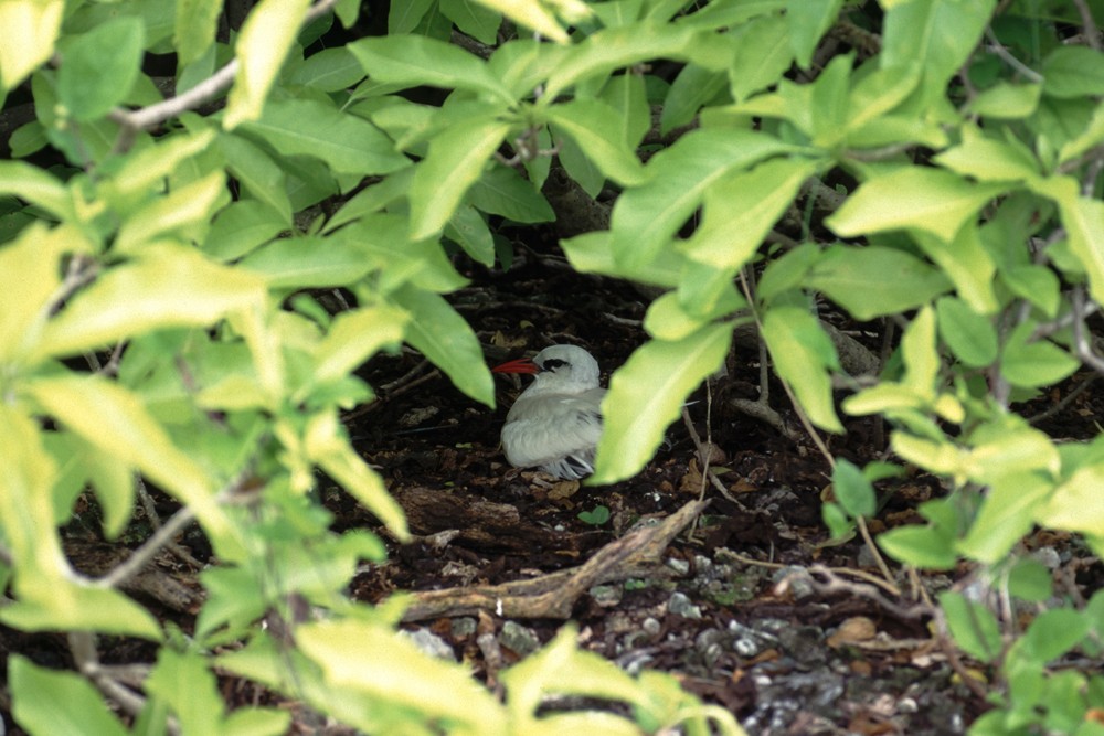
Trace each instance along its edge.
{"label": "long green leaf stretching up-left from the top-centre leaf whorl", "polygon": [[500,103],[513,95],[475,54],[425,35],[361,39],[346,46],[370,79],[402,87],[442,87],[488,93]]}

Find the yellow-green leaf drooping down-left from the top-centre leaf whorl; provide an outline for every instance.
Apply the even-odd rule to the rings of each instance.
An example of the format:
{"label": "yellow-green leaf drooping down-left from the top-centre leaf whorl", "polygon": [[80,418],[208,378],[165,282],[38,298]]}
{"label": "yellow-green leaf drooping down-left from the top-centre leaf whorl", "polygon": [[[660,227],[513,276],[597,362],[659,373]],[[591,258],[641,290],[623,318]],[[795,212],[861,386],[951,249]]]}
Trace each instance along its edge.
{"label": "yellow-green leaf drooping down-left from the top-centre leaf whorl", "polygon": [[456,122],[429,142],[411,183],[411,239],[438,235],[510,130],[497,115]]}

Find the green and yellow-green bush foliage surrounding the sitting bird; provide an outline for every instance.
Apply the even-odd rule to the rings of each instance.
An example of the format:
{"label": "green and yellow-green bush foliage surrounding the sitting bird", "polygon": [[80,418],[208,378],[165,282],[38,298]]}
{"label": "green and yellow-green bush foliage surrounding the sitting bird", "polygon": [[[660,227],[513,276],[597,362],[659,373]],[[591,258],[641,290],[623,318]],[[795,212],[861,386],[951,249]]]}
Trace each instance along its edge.
{"label": "green and yellow-green bush foliage surrounding the sitting bird", "polygon": [[[1060,445],[1016,412],[1104,371],[1094,17],[1096,0],[410,0],[368,33],[358,0],[3,0],[0,100],[33,115],[0,161],[0,622],[71,632],[79,665],[11,657],[15,718],[126,733],[106,697],[135,730],[283,733],[286,713],[227,713],[217,669],[370,733],[736,733],[570,628],[503,674],[503,705],[393,636],[401,600],[342,595],[383,545],[330,531],[317,471],[407,534],[338,420],[372,397],[354,370],[407,342],[492,405],[442,296],[464,284],[448,254],[492,267],[498,223],[562,215],[559,175],[599,211],[616,193],[563,241],[572,265],[662,292],[612,380],[595,481],[647,462],[754,321],[810,428],[878,415],[901,462],[946,479],[926,525],[880,537],[891,557],[968,561],[1047,608],[1019,631],[942,597],[962,650],[999,670],[973,733],[1102,733],[1104,679],[1051,664],[1100,654],[1104,594],[1054,599],[1012,556],[1034,526],[1104,554],[1104,440]],[[351,306],[331,316],[311,294],[338,287]],[[822,299],[900,329],[877,376],[842,371]],[[837,465],[835,533],[890,471]],[[120,593],[138,564],[92,578],[62,552],[86,488],[115,538],[136,479],[182,504],[139,562],[191,520],[215,553],[191,636]],[[297,601],[326,614],[293,649],[258,622]],[[93,634],[157,642],[140,692]],[[631,715],[539,714],[553,693]]]}

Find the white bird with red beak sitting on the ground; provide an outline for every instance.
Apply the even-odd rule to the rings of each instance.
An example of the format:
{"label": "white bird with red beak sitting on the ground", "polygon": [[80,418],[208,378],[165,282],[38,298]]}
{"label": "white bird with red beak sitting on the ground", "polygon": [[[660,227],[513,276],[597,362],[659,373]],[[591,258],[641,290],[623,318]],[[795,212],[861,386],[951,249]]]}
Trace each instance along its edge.
{"label": "white bird with red beak sitting on the ground", "polygon": [[532,359],[521,358],[491,371],[535,376],[506,415],[502,449],[510,465],[540,468],[569,480],[593,473],[606,395],[598,387],[597,361],[582,348],[552,345]]}

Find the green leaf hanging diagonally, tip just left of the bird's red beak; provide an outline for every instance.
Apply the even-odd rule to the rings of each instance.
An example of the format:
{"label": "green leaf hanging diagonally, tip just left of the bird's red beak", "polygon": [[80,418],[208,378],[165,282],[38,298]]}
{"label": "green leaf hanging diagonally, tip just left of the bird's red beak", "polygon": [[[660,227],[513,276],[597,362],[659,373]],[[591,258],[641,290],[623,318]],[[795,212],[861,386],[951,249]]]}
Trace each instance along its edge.
{"label": "green leaf hanging diagonally, tip just left of the bird's red beak", "polygon": [[403,287],[393,301],[411,313],[406,341],[444,371],[453,384],[487,406],[495,406],[495,381],[484,362],[479,339],[463,317],[436,294]]}

